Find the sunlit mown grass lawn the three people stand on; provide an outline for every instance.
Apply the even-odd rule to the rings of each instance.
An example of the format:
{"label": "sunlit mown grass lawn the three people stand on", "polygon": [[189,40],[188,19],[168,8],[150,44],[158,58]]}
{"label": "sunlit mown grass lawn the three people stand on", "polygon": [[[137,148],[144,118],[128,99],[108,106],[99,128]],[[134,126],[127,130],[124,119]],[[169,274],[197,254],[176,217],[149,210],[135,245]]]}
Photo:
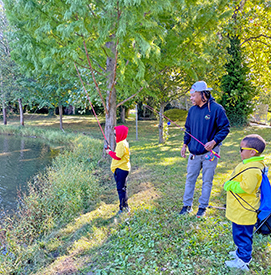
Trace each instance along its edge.
{"label": "sunlit mown grass lawn the three people stand on", "polygon": [[[66,153],[75,163],[74,170],[61,170],[67,155],[59,156],[61,175],[68,174],[65,181],[69,180],[70,172],[76,174],[77,167],[82,173],[86,172],[88,150],[95,146],[92,153],[96,156],[89,164],[92,164],[90,176],[97,184],[93,203],[82,204],[78,209],[73,206],[72,216],[54,223],[28,246],[16,244],[21,247],[21,254],[27,256],[18,252],[16,259],[12,255],[0,258],[6,268],[10,268],[10,274],[242,274],[224,266],[224,261],[229,259],[228,252],[235,249],[231,223],[225,218],[224,210],[210,208],[204,218],[195,217],[201,177],[196,185],[193,213],[187,217],[178,214],[187,165],[187,160],[180,157],[183,140],[180,129],[170,126],[169,138],[161,145],[158,144],[157,121],[139,121],[138,140],[134,119],[127,121],[132,164],[128,179],[131,214],[117,216],[118,197],[110,159],[102,158],[102,134],[93,117],[65,116],[65,133],[58,130],[56,117],[27,115],[23,129],[18,127],[18,121],[18,118],[10,119],[9,126],[1,126],[0,132],[62,140],[75,148]],[[240,162],[241,139],[251,133],[258,133],[267,141],[265,162],[271,166],[270,128],[231,129],[221,148],[211,206],[225,204],[226,192],[222,184]],[[101,141],[89,147],[87,141],[71,142],[78,137]],[[80,163],[84,163],[84,169],[79,167]],[[54,181],[62,176],[58,174]],[[80,177],[81,173],[77,173],[72,180],[79,181]],[[82,184],[85,181],[87,176],[81,179]],[[64,201],[63,212],[69,207],[72,204]],[[253,249],[249,274],[271,274],[270,236],[255,235]]]}

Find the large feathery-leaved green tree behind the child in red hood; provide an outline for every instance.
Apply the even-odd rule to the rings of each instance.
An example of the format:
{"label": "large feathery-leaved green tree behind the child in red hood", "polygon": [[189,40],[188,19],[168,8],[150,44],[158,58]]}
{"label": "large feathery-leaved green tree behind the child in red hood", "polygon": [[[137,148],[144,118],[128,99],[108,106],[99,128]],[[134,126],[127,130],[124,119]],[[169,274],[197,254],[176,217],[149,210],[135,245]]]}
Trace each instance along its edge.
{"label": "large feathery-leaved green tree behind the child in red hood", "polygon": [[[28,72],[48,69],[65,79],[74,74],[75,64],[83,81],[90,84],[87,92],[95,98],[98,92],[96,100],[104,107],[105,134],[112,146],[117,107],[151,85],[146,60],[161,64],[162,70],[173,63],[193,73],[189,59],[196,60],[197,52],[189,48],[208,44],[203,32],[217,25],[229,1],[4,2],[20,40],[14,58]],[[163,47],[171,53],[165,59],[161,58]],[[61,70],[56,71],[56,64]],[[122,98],[126,99],[119,101]]]}

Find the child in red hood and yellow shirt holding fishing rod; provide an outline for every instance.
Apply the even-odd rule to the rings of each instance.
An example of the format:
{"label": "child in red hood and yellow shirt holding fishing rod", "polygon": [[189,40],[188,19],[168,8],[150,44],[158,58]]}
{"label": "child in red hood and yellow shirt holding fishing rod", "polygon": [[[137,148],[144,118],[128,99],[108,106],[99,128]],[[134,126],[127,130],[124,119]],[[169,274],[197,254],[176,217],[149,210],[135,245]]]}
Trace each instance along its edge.
{"label": "child in red hood and yellow shirt holding fishing rod", "polygon": [[116,151],[106,149],[106,152],[112,158],[111,171],[114,173],[119,195],[119,214],[123,211],[130,212],[127,195],[127,176],[131,170],[129,143],[126,140],[128,130],[128,127],[124,125],[114,127],[117,143]]}

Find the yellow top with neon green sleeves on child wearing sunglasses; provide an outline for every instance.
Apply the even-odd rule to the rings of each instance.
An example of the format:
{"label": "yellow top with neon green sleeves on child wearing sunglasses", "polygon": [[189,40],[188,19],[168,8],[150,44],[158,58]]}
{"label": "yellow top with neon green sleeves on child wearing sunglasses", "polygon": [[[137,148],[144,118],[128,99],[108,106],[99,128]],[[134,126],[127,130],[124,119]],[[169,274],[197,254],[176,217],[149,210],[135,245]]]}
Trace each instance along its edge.
{"label": "yellow top with neon green sleeves on child wearing sunglasses", "polygon": [[[235,167],[231,178],[249,167],[258,167],[263,170],[263,160],[264,157],[261,156],[243,160],[243,162]],[[245,208],[253,210],[253,208],[259,209],[260,207],[259,188],[262,181],[262,172],[260,169],[248,169],[233,180],[225,182],[224,189],[227,191],[226,217],[230,221],[240,225],[253,225],[256,223],[257,213],[246,210]],[[241,197],[236,195],[245,208],[230,191]]]}

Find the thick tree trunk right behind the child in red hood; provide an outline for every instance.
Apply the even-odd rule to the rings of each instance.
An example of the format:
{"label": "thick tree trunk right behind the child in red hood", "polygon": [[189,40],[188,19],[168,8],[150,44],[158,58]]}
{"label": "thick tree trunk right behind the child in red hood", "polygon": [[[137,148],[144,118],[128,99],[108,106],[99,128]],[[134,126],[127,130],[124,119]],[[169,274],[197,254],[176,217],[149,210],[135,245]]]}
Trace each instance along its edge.
{"label": "thick tree trunk right behind the child in red hood", "polygon": [[[105,115],[105,136],[109,142],[111,150],[115,149],[114,127],[116,126],[116,111],[117,111],[117,96],[114,82],[114,68],[115,68],[115,54],[116,44],[114,42],[107,42],[106,47],[111,49],[112,56],[108,56],[106,60],[107,72],[107,96],[106,107],[108,113]],[[112,88],[113,87],[113,88]]]}

